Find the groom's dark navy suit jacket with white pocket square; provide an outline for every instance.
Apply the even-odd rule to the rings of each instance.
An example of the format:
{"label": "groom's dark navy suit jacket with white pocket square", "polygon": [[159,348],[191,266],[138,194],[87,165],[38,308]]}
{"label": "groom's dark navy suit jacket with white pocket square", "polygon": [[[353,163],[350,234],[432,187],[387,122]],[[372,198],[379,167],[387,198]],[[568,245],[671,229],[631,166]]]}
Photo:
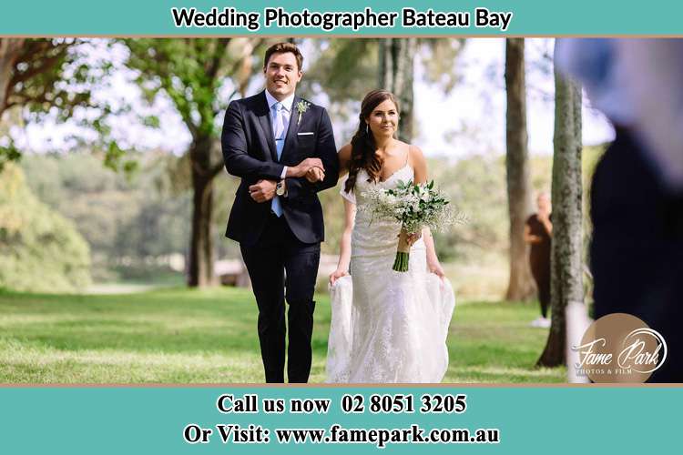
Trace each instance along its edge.
{"label": "groom's dark navy suit jacket with white pocket square", "polygon": [[250,185],[261,178],[280,180],[284,166],[296,166],[309,157],[321,158],[325,179],[311,184],[304,177],[287,178],[288,194],[280,197],[280,201],[283,216],[301,242],[324,240],[322,208],[316,193],[337,184],[339,158],[327,111],[307,101],[310,106],[299,122],[296,106],[300,101],[299,96],[294,96],[290,126],[280,160],[265,91],[232,101],[225,113],[221,137],[223,159],[229,174],[241,178],[230,210],[226,237],[242,245],[256,244],[270,214],[270,201],[254,201],[249,195]]}

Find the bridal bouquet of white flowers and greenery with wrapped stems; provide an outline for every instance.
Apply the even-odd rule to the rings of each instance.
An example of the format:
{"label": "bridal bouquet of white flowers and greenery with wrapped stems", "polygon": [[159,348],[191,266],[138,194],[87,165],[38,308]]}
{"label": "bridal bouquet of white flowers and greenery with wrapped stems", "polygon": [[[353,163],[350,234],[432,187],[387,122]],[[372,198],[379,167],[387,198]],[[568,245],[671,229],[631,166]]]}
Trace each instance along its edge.
{"label": "bridal bouquet of white flowers and greenery with wrapped stems", "polygon": [[393,218],[401,223],[401,234],[393,261],[393,270],[408,271],[410,245],[408,236],[420,232],[423,227],[443,231],[453,224],[464,223],[466,217],[449,206],[448,197],[434,188],[434,182],[413,184],[399,181],[393,189],[372,188],[363,195],[368,199],[366,210],[372,216]]}

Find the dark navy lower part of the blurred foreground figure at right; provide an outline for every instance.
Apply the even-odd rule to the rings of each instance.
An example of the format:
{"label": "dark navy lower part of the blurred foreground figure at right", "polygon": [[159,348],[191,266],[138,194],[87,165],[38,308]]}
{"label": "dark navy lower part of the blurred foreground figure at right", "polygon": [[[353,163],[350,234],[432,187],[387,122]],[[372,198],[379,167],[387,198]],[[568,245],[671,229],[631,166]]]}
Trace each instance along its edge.
{"label": "dark navy lower part of the blurred foreground figure at right", "polygon": [[642,319],[668,345],[648,381],[683,382],[683,196],[660,184],[637,138],[616,129],[591,187],[595,318]]}

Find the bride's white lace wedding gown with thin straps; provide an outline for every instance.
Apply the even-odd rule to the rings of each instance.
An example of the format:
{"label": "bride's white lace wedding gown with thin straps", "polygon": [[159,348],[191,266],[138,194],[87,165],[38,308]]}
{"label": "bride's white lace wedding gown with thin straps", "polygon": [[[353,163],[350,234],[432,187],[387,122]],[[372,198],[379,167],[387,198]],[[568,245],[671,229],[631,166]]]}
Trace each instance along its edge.
{"label": "bride's white lace wedding gown with thin straps", "polygon": [[[362,207],[366,204],[363,191],[411,180],[413,168],[406,165],[376,184],[367,179],[361,170],[353,194],[342,189],[342,197]],[[454,291],[447,279],[428,272],[422,239],[411,248],[409,270],[392,270],[400,230],[401,225],[392,220],[372,219],[372,214],[356,211],[351,276],[339,278],[330,289],[328,382],[433,383],[443,379]]]}

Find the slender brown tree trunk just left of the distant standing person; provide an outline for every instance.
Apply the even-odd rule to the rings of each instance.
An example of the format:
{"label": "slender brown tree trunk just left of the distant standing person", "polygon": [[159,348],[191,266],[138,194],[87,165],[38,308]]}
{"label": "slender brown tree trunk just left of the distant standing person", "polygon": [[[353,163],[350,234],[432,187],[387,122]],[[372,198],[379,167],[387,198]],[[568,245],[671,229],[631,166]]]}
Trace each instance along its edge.
{"label": "slender brown tree trunk just left of the distant standing person", "polygon": [[523,300],[535,286],[525,243],[526,218],[532,213],[529,152],[526,136],[525,40],[505,40],[505,91],[507,94],[505,168],[510,216],[510,280],[505,299]]}

